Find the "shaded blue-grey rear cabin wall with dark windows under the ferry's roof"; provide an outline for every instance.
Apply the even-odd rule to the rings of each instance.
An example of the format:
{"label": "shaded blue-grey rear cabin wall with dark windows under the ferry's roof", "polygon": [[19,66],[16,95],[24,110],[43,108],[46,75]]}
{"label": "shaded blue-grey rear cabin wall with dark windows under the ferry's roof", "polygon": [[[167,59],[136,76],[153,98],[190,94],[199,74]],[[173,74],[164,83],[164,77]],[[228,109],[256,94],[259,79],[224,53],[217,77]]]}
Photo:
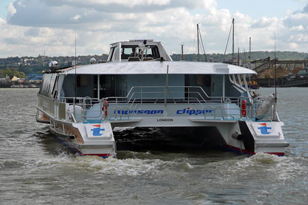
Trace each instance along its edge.
{"label": "shaded blue-grey rear cabin wall with dark windows under the ferry's roof", "polygon": [[[144,79],[148,79],[144,81]],[[144,75],[77,75],[77,96],[90,98],[103,98],[114,96],[127,96],[131,87],[138,86],[164,86],[166,83],[165,74],[151,74],[144,77]],[[98,86],[99,83],[99,86]],[[207,93],[211,92],[211,76],[210,75],[169,75],[169,86],[200,86]],[[63,92],[66,97],[75,96],[75,76],[68,75],[64,79]],[[175,88],[173,88],[175,89]],[[99,91],[98,91],[99,90]],[[162,88],[157,88],[155,92],[161,92]],[[188,90],[180,90],[178,88],[175,92],[188,92]],[[200,89],[190,88],[190,92],[200,92]],[[135,90],[138,92],[138,90]],[[140,91],[139,91],[140,92]],[[146,92],[143,90],[143,92]],[[149,91],[150,92],[150,91]],[[173,92],[173,91],[172,91]],[[184,97],[177,94],[179,98]],[[187,95],[187,94],[186,94]],[[152,95],[153,96],[153,95]]]}

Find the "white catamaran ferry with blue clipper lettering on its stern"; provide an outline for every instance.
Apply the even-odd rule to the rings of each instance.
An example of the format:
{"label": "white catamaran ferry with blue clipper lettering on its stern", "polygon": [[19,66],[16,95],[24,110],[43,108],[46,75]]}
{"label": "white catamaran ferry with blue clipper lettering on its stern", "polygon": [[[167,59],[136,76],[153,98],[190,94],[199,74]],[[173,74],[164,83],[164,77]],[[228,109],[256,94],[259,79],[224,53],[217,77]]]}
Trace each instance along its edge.
{"label": "white catamaran ferry with blue clipper lettering on its stern", "polygon": [[205,140],[248,154],[284,155],[289,146],[275,96],[249,90],[253,70],[172,61],[153,40],[116,42],[107,61],[90,62],[57,68],[51,61],[36,107],[37,122],[81,155],[116,156],[113,129],[120,126],[202,128]]}

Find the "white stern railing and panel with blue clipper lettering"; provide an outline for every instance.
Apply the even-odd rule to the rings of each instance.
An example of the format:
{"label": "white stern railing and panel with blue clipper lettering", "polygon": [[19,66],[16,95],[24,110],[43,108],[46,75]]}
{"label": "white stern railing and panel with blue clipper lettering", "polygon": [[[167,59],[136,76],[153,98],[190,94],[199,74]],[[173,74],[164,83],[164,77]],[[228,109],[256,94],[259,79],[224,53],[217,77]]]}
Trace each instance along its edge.
{"label": "white stern railing and panel with blue clipper lettering", "polygon": [[[160,89],[161,91],[157,91]],[[151,91],[154,90],[154,91]],[[164,96],[164,97],[163,97]],[[261,105],[268,98],[208,96],[202,87],[197,86],[143,86],[131,87],[125,97],[101,98],[60,98],[60,102],[70,106],[69,120],[85,122],[90,120],[132,120],[136,118],[140,106],[151,107],[157,104],[186,104],[195,107],[192,112],[198,112],[198,118],[205,120],[274,120],[276,110],[269,106],[259,115]],[[112,108],[105,113],[105,100]],[[244,102],[246,101],[246,103]],[[230,105],[237,107],[230,107]],[[97,109],[92,109],[92,107]],[[264,114],[265,113],[265,114]],[[164,113],[162,116],[165,116]],[[190,115],[194,118],[195,115]]]}

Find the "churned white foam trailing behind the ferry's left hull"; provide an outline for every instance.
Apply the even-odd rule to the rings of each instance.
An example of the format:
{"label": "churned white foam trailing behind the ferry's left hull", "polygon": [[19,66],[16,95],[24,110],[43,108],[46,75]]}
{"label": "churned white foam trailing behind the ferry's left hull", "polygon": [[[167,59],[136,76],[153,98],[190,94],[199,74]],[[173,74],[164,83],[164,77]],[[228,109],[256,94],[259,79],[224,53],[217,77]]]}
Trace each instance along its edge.
{"label": "churned white foam trailing behind the ferry's left hull", "polygon": [[[149,153],[146,153],[149,154]],[[103,159],[99,156],[75,156],[61,152],[57,156],[45,156],[35,161],[27,161],[27,170],[57,168],[111,174],[114,176],[138,176],[157,174],[160,167],[170,162],[160,159]]]}

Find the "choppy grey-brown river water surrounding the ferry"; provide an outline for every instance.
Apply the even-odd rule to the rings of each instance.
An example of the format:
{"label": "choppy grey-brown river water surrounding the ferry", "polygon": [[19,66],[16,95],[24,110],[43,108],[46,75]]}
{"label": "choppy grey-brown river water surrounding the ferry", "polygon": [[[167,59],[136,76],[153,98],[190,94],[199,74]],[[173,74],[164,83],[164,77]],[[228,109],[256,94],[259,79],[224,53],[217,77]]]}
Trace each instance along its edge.
{"label": "choppy grey-brown river water surrounding the ferry", "polygon": [[138,128],[116,130],[117,159],[81,157],[35,121],[37,92],[0,89],[0,204],[308,202],[308,88],[278,88],[290,142],[281,157],[198,150]]}

